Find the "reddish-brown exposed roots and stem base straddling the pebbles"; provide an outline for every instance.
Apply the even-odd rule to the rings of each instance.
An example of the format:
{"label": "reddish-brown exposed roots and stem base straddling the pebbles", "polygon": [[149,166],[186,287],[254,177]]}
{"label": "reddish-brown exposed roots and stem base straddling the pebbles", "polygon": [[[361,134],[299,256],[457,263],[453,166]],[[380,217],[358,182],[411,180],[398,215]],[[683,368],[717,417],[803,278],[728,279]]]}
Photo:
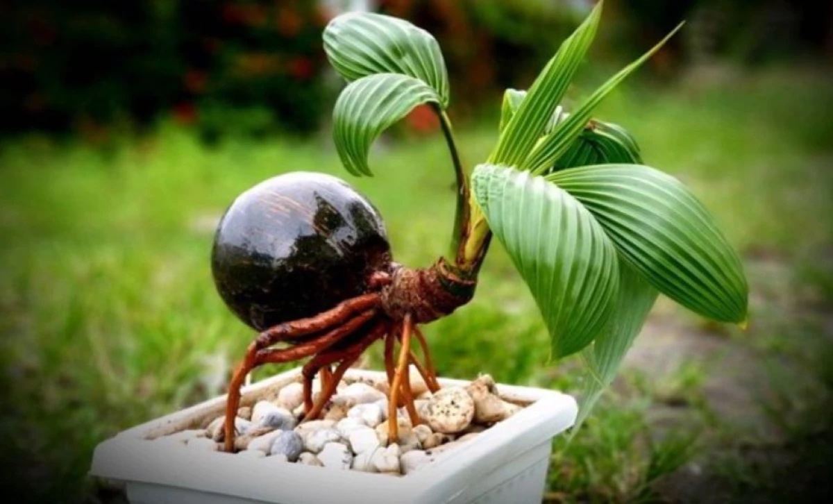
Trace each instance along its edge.
{"label": "reddish-brown exposed roots and stem base straddling the pebbles", "polygon": [[[312,357],[302,367],[303,419],[312,420],[327,407],[347,369],[380,339],[385,342],[385,372],[390,388],[387,435],[389,442],[396,442],[399,407],[405,407],[412,425],[421,422],[414,404],[410,367],[416,368],[428,390],[440,389],[431,352],[417,324],[444,317],[468,302],[475,284],[471,279],[456,276],[442,260],[430,268],[417,270],[394,266],[390,274],[372,273],[368,285],[378,292],[353,297],[314,317],[285,322],[261,332],[249,345],[229,385],[223,430],[226,452],[234,449],[240,387],[253,369],[267,363]],[[412,351],[412,339],[421,347],[422,361]],[[395,356],[397,341],[400,347]],[[272,347],[278,343],[290,346]],[[319,374],[322,390],[313,397],[312,381]]]}

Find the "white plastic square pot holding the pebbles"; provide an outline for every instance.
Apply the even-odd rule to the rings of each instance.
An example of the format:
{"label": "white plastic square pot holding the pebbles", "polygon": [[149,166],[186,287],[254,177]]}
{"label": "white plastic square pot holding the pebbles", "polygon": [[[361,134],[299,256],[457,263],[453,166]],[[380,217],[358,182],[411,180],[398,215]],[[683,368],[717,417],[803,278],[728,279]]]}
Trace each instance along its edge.
{"label": "white plastic square pot holding the pebbles", "polygon": [[[299,369],[243,389],[242,405],[274,397]],[[347,378],[382,379],[350,370]],[[441,385],[466,385],[441,379]],[[521,412],[404,477],[202,452],[150,440],[199,427],[222,415],[225,396],[117,434],[96,448],[92,476],[124,482],[132,504],[362,504],[541,502],[551,439],[576,420],[576,401],[560,392],[498,385],[501,396],[529,403]]]}

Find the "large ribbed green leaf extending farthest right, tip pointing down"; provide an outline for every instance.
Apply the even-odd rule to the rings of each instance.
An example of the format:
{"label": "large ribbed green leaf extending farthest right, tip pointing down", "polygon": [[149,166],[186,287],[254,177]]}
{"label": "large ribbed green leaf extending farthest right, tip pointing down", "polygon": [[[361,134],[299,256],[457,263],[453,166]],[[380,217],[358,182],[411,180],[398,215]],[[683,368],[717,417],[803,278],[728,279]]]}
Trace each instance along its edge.
{"label": "large ribbed green leaf extending farthest right, tip pointing down", "polygon": [[583,203],[660,292],[706,317],[746,321],[741,259],[676,178],[641,165],[599,165],[546,179]]}

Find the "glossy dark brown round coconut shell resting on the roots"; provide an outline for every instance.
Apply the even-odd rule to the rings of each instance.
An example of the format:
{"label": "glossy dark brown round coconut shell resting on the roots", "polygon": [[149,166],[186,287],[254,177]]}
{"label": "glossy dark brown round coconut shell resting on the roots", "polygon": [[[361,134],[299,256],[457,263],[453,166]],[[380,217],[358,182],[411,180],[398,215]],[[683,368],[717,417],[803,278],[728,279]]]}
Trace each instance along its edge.
{"label": "glossy dark brown round coconut shell resting on the roots", "polygon": [[337,177],[292,172],[232,202],[217,227],[217,292],[258,331],[312,317],[367,292],[390,245],[376,208]]}

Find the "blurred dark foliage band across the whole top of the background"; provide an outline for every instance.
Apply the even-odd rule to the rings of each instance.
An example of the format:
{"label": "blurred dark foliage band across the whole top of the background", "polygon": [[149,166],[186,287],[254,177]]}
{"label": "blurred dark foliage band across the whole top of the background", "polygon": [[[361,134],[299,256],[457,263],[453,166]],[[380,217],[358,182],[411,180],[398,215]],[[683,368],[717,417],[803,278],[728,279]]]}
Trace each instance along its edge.
{"label": "blurred dark foliage band across the whole top of the background", "polygon": [[[327,6],[352,3],[0,2],[0,135],[75,131],[102,140],[160,116],[197,126],[207,139],[310,132],[334,98],[321,32],[338,9]],[[363,3],[436,36],[452,112],[471,117],[491,112],[503,88],[527,87],[594,0]],[[688,25],[646,73],[676,76],[683,64],[714,57],[766,62],[833,50],[823,2],[612,0],[593,61],[621,66],[681,19]],[[408,118],[410,130],[436,130],[423,112]]]}

